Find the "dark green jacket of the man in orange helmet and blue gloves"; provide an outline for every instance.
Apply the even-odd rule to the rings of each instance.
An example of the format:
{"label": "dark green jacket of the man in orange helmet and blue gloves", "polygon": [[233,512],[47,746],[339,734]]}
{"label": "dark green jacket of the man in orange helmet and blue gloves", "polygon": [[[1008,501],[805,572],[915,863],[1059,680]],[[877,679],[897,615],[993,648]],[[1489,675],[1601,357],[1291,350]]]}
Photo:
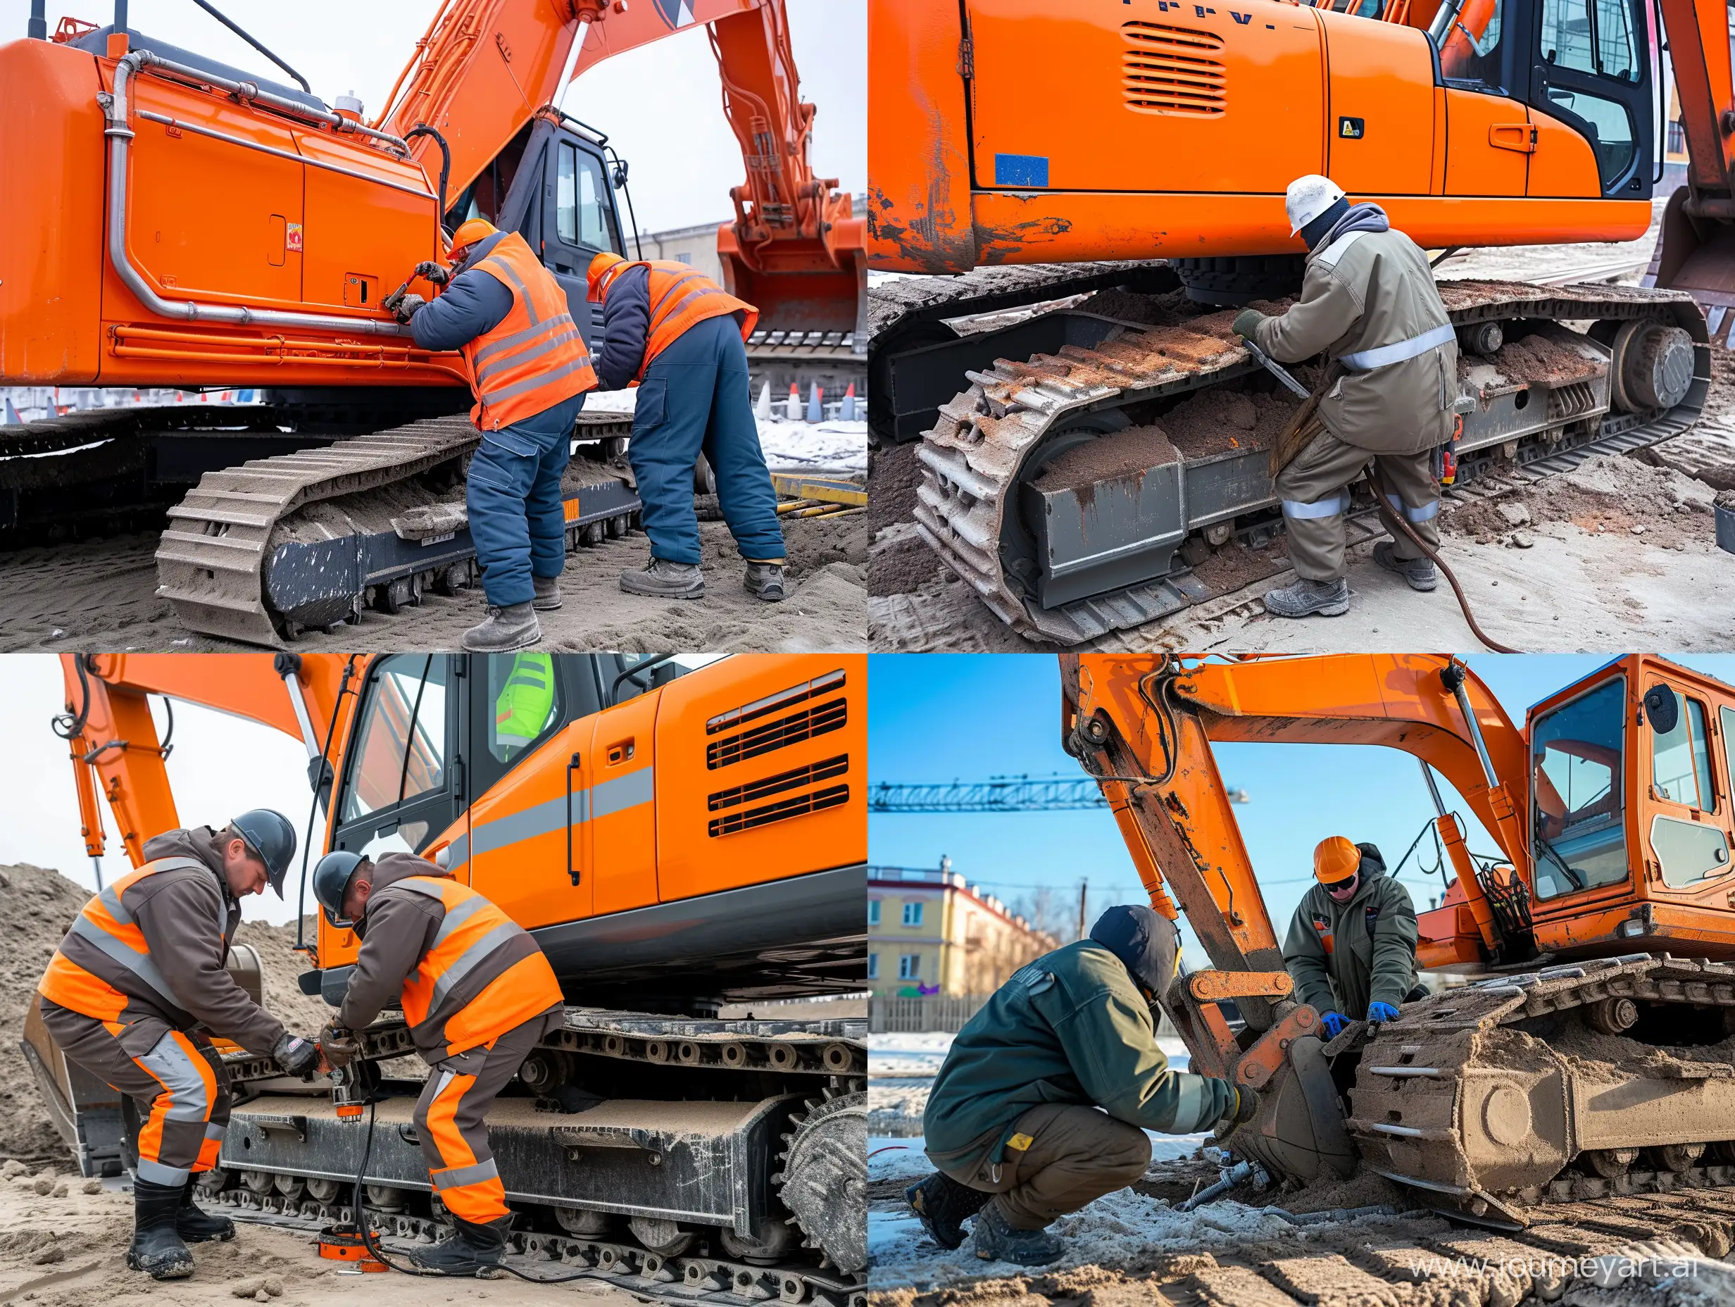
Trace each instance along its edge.
{"label": "dark green jacket of the man in orange helmet and blue gloves", "polygon": [[1348,903],[1313,885],[1284,939],[1284,967],[1296,998],[1320,1012],[1360,1021],[1369,1003],[1397,1007],[1416,988],[1416,906],[1409,890],[1362,859],[1362,883]]}

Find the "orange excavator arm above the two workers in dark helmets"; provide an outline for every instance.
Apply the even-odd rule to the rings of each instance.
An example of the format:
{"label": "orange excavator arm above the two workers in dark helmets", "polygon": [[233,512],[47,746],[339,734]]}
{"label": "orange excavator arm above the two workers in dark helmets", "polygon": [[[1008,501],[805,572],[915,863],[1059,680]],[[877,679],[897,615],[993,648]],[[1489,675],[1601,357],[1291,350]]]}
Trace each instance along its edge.
{"label": "orange excavator arm above the two workers in dark helmets", "polygon": [[144,863],[146,840],[180,824],[167,767],[172,741],[158,734],[151,694],[295,736],[312,781],[328,736],[344,738],[361,670],[361,660],[342,654],[61,654],[66,715],[56,732],[71,752],[85,852],[99,859],[106,849],[99,793],[134,866]]}

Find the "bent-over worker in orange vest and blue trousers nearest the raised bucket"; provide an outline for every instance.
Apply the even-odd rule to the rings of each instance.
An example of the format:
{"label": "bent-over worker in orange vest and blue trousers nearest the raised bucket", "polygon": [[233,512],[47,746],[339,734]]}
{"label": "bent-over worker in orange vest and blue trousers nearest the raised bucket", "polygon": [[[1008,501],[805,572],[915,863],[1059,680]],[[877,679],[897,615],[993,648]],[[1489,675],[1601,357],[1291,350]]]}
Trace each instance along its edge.
{"label": "bent-over worker in orange vest and blue trousers nearest the raised bucket", "polygon": [[777,602],[786,594],[782,528],[753,420],[744,347],[758,309],[687,264],[630,264],[614,253],[590,260],[590,299],[602,304],[597,371],[604,389],[638,385],[626,456],[644,502],[651,562],[621,573],[621,588],[668,599],[704,594],[692,509],[703,453],[717,474],[723,521],[746,559],[748,594]]}

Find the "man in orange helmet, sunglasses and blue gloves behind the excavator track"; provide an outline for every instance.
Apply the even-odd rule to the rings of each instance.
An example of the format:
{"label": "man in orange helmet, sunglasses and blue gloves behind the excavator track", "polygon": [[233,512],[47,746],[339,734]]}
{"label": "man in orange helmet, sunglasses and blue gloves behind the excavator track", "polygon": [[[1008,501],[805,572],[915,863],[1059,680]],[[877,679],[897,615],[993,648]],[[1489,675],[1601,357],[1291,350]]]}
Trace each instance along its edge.
{"label": "man in orange helmet, sunglasses and blue gloves behind the excavator track", "polygon": [[1409,890],[1386,875],[1378,847],[1343,835],[1313,849],[1313,880],[1284,939],[1296,998],[1320,1012],[1327,1040],[1350,1021],[1397,1021],[1398,1003],[1428,993],[1416,982]]}

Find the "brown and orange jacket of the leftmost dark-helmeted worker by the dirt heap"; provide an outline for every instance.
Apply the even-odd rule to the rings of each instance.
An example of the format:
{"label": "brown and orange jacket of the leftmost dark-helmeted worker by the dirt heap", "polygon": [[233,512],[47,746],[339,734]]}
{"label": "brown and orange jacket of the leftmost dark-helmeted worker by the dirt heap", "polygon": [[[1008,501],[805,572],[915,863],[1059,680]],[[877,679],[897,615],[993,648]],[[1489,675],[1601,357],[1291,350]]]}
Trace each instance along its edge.
{"label": "brown and orange jacket of the leftmost dark-helmeted worker by the dirt heap", "polygon": [[[212,1034],[234,1040],[243,1048],[269,1054],[283,1038],[283,1022],[259,1007],[236,979],[224,970],[229,944],[241,925],[241,903],[229,892],[222,871],[222,847],[210,826],[172,830],[144,844],[146,863],[165,857],[186,857],[200,866],[182,866],[139,877],[125,890],[108,890],[94,903],[115,916],[130,916],[144,936],[151,963],[168,984],[175,1003],[170,1003],[141,975],[120,965],[92,941],[78,925],[68,930],[43,975],[42,993],[49,1002],[59,1002],[73,1012],[130,1026],[135,1021],[158,1019],[174,1029],[193,1029],[203,1024]],[[142,868],[141,868],[142,870]],[[125,878],[123,878],[125,880]],[[115,913],[115,903],[121,913]],[[116,1015],[88,1012],[87,1005],[62,1002],[68,991],[56,984],[56,965],[66,963],[88,972],[125,998]],[[59,998],[56,998],[59,995]]]}

